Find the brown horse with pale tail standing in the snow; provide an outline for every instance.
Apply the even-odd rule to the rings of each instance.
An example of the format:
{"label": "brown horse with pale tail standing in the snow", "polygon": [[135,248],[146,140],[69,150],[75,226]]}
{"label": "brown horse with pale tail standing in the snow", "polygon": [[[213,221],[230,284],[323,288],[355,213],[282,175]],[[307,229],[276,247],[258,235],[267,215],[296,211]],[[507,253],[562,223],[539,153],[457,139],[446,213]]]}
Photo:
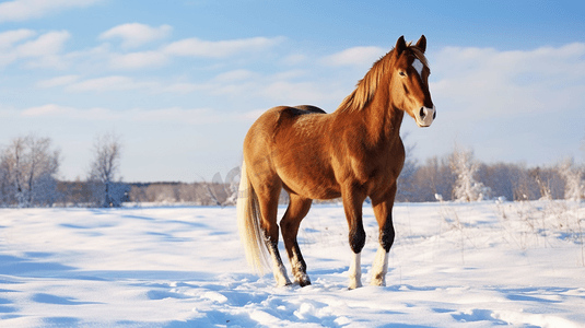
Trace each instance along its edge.
{"label": "brown horse with pale tail standing in the snow", "polygon": [[353,250],[350,289],[362,285],[362,204],[366,197],[379,225],[372,284],[386,284],[395,235],[396,179],[405,162],[399,134],[402,117],[407,113],[419,127],[429,127],[436,116],[425,49],[424,35],[416,45],[407,45],[401,36],[335,113],[314,106],[274,107],[249,129],[237,200],[239,233],[248,262],[261,272],[271,261],[278,285],[291,284],[278,250],[282,188],[289,192],[290,203],[280,227],[294,280],[301,286],[311,284],[296,242],[301,221],[313,199],[338,197],[343,201]]}

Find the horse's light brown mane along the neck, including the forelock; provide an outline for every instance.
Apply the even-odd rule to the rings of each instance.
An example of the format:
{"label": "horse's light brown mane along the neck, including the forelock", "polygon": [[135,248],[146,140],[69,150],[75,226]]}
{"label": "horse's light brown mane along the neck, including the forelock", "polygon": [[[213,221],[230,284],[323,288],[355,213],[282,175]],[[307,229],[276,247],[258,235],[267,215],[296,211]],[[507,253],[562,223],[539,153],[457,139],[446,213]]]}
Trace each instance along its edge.
{"label": "horse's light brown mane along the neck, including the forelock", "polygon": [[[414,56],[425,67],[429,67],[426,57],[424,57],[424,54],[421,51],[421,49],[416,46],[411,46],[411,44],[412,43],[408,43],[408,49],[414,52]],[[390,69],[394,51],[395,49],[393,48],[390,51],[388,51],[388,54],[384,55],[381,59],[374,62],[370,71],[365,73],[365,77],[358,82],[355,90],[348,95],[343,102],[341,102],[338,110],[347,113],[358,112],[364,108],[367,103],[370,103],[378,87],[382,77],[388,69]]]}

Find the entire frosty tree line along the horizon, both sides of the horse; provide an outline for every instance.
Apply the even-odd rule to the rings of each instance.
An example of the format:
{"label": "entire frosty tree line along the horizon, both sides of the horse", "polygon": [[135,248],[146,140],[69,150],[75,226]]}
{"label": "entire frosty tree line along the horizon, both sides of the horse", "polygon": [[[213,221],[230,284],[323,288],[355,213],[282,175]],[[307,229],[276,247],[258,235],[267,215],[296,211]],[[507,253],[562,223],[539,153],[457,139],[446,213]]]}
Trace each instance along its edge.
{"label": "entire frosty tree line along the horizon, both sides of the horse", "polygon": [[[584,167],[572,159],[555,165],[528,167],[525,164],[476,161],[472,150],[455,147],[451,154],[419,163],[413,147],[398,179],[399,202],[478,201],[485,199],[536,200],[585,197]],[[119,136],[97,136],[93,159],[84,179],[60,180],[61,154],[49,138],[28,134],[11,140],[0,150],[0,207],[120,207],[124,202],[235,204],[238,168],[221,179],[217,174],[206,183],[121,181],[119,165],[122,144]],[[281,202],[288,202],[285,192]]]}

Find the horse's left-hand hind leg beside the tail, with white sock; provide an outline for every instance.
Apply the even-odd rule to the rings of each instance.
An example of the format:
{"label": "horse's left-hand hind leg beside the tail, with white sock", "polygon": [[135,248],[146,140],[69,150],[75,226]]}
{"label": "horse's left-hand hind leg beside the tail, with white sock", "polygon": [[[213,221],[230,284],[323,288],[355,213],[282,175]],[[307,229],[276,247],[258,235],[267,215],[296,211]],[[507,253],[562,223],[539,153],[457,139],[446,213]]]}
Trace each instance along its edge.
{"label": "horse's left-hand hind leg beside the tail, with white sock", "polygon": [[286,274],[286,268],[282,263],[282,258],[278,250],[279,227],[277,224],[278,200],[280,196],[280,185],[273,188],[266,188],[265,192],[258,192],[258,203],[262,216],[261,227],[266,235],[266,245],[272,259],[272,271],[277,285],[291,284]]}

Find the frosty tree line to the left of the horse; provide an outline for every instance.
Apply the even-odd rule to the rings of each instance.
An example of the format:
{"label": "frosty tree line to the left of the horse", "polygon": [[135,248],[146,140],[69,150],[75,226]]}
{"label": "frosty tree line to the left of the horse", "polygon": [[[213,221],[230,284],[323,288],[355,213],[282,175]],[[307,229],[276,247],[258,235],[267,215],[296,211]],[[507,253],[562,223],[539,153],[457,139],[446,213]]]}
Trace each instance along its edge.
{"label": "frosty tree line to the left of the horse", "polygon": [[114,132],[100,134],[85,178],[59,179],[61,153],[50,138],[31,133],[0,148],[0,207],[120,207],[125,202],[188,202],[200,206],[235,204],[231,184],[134,183],[121,180],[122,144]]}

